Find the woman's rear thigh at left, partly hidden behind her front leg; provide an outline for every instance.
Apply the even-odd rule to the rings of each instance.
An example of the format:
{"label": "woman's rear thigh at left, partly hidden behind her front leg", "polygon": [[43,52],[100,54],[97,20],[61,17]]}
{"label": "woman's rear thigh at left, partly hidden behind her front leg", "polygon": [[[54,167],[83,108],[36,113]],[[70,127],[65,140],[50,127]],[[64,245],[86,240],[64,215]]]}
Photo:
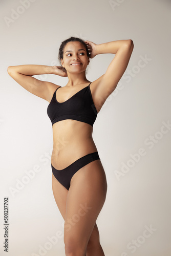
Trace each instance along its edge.
{"label": "woman's rear thigh at left, partly hidden behind her front leg", "polygon": [[58,206],[58,209],[63,219],[65,220],[68,190],[66,187],[60,184],[59,181],[57,181],[57,179],[54,177],[53,174],[52,174],[52,191],[53,191],[53,195],[55,198],[55,202]]}

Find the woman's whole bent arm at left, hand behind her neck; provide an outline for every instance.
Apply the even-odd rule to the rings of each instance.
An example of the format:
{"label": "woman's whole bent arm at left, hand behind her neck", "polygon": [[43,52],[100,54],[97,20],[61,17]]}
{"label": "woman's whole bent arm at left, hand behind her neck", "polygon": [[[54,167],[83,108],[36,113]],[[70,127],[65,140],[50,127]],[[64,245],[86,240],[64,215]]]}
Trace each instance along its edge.
{"label": "woman's whole bent arm at left, hand behind her neck", "polygon": [[48,81],[41,81],[32,76],[40,74],[55,74],[67,76],[62,67],[45,65],[19,65],[9,66],[8,74],[30,93],[50,102],[52,92],[58,87]]}

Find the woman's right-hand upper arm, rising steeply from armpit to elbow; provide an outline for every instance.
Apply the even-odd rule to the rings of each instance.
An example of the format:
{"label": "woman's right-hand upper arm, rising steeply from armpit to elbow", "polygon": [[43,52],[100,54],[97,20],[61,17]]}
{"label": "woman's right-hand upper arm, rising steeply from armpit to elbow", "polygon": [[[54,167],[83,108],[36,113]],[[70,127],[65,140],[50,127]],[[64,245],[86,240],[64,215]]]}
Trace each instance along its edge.
{"label": "woman's right-hand upper arm, rising steeply from armpit to elbow", "polygon": [[106,98],[115,90],[126,70],[133,48],[133,41],[127,40],[125,45],[118,49],[105,74],[94,81],[94,101],[96,101],[96,105],[99,105],[99,107],[101,103],[98,100],[104,103]]}

